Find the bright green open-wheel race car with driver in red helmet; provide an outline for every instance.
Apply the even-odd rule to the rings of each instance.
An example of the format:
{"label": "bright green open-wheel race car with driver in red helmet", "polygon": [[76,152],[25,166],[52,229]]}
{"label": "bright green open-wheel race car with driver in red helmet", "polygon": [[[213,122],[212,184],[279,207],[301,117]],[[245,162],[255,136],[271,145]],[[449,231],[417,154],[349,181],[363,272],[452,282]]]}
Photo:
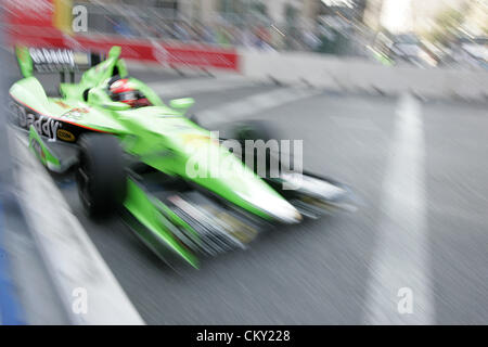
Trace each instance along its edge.
{"label": "bright green open-wheel race car with driver in red helmet", "polygon": [[[242,121],[223,124],[227,136],[214,137],[187,117],[191,98],[168,106],[130,77],[119,47],[106,60],[63,49],[17,47],[16,54],[24,78],[10,89],[12,121],[28,134],[30,150],[50,171],[74,175],[90,217],[120,211],[169,264],[177,258],[197,268],[201,256],[245,248],[271,226],[354,208],[349,188],[291,170],[280,154],[231,151],[223,145],[229,139],[244,144],[270,133]],[[75,83],[81,65],[87,69]],[[63,81],[72,74],[60,97],[48,97],[34,76],[46,72]],[[259,156],[279,165],[260,175]]]}

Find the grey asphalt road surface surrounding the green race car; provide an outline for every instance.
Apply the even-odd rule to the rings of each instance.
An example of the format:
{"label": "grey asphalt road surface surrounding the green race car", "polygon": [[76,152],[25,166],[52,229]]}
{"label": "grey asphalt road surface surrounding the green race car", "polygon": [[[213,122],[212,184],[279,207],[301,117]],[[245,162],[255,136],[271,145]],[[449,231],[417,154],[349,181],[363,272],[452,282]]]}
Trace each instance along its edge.
{"label": "grey asphalt road surface surrounding the green race car", "polygon": [[[154,73],[134,75],[141,79],[151,75],[152,81],[158,80]],[[160,76],[163,83],[183,79]],[[269,103],[253,99],[278,94],[284,98]],[[234,119],[231,111],[235,110],[241,118],[268,119],[283,139],[304,140],[305,168],[350,184],[362,203],[354,214],[264,234],[245,252],[204,260],[198,271],[175,272],[121,221],[88,220],[73,182],[60,183],[147,323],[488,321],[486,105],[410,100],[421,120],[416,126],[422,129],[422,141],[412,142],[412,149],[416,149],[412,151],[423,158],[412,162],[418,167],[412,178],[409,172],[406,177],[391,174],[396,172],[396,163],[402,163],[401,156],[410,155],[409,150],[395,150],[399,141],[396,121],[401,119],[401,100],[396,98],[314,90],[296,98],[296,90],[273,85],[211,91],[202,88],[191,95],[196,100],[192,112],[197,115],[209,115],[214,110],[222,119]],[[243,112],[246,100],[254,104]],[[385,203],[388,194],[394,202],[397,196],[391,193],[396,188],[385,183],[391,175],[407,195],[412,187],[420,192],[412,195],[415,214],[401,204],[388,206],[391,197]],[[398,194],[404,193],[400,189]],[[395,220],[397,215],[406,220]],[[385,220],[394,227],[384,230]],[[397,273],[401,274],[399,282]],[[393,282],[385,283],[388,279]],[[397,282],[398,286],[393,286]],[[416,286],[422,290],[415,292]],[[412,287],[411,314],[398,311],[400,287]],[[382,295],[388,299],[383,300]],[[372,316],[377,311],[383,320]]]}

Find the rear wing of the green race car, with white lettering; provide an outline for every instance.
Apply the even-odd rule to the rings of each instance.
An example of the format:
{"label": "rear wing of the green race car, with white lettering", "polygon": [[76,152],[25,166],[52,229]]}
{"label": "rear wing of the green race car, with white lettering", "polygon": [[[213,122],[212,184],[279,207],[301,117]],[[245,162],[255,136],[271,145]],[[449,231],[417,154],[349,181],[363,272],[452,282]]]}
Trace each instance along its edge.
{"label": "rear wing of the green race car, with white lettering", "polygon": [[75,80],[75,73],[85,72],[102,62],[103,53],[89,51],[74,51],[66,48],[27,48],[15,47],[21,74],[24,77],[34,74],[60,74],[64,82],[69,74],[70,81]]}

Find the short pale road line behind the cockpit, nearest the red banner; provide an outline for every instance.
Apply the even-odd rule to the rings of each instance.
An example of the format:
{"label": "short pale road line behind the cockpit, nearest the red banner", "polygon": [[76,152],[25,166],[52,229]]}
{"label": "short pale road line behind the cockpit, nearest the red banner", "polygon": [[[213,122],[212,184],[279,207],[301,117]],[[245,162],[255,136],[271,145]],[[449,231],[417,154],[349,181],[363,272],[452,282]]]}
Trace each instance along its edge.
{"label": "short pale road line behind the cockpit, nearest the red banner", "polygon": [[149,87],[163,98],[190,97],[195,92],[227,91],[254,85],[256,85],[255,81],[242,76],[190,78],[177,81],[147,83]]}

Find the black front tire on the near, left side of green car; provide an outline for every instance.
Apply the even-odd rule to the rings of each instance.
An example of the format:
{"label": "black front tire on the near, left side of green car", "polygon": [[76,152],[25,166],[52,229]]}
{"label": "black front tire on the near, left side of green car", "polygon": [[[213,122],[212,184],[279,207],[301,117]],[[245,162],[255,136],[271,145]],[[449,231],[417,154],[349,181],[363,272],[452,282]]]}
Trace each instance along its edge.
{"label": "black front tire on the near, left side of green car", "polygon": [[84,134],[76,171],[78,195],[92,218],[112,215],[127,192],[126,171],[118,140],[108,134]]}

